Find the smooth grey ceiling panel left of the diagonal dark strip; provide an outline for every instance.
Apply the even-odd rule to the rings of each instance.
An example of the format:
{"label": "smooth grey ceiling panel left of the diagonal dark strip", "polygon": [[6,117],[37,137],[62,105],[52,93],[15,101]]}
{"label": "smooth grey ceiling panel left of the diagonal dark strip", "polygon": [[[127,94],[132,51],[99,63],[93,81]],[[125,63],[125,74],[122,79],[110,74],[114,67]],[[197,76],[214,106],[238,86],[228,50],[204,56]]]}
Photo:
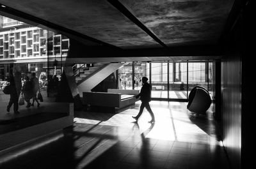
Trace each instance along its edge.
{"label": "smooth grey ceiling panel left of the diagonal dark strip", "polygon": [[0,0],[0,3],[117,47],[161,47],[105,0]]}

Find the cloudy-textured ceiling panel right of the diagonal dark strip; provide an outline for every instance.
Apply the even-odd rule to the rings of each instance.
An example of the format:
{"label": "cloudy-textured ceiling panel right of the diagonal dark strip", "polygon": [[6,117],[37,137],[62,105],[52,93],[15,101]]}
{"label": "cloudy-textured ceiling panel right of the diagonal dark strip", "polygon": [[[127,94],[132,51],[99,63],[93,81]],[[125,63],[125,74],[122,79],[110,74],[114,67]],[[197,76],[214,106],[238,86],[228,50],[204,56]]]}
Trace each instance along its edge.
{"label": "cloudy-textured ceiling panel right of the diagonal dark strip", "polygon": [[234,0],[120,0],[168,46],[217,43]]}

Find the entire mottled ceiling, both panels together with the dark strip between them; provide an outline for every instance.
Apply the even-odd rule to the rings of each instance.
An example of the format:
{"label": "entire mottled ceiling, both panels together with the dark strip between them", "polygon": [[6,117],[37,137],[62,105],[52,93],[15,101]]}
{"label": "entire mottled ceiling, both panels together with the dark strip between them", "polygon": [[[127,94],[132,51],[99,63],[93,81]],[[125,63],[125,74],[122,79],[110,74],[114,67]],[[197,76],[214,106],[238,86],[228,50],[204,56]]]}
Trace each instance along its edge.
{"label": "entire mottled ceiling, both panels together with the dark strip between them", "polygon": [[234,0],[0,0],[0,3],[84,35],[81,37],[87,40],[135,49],[216,45]]}

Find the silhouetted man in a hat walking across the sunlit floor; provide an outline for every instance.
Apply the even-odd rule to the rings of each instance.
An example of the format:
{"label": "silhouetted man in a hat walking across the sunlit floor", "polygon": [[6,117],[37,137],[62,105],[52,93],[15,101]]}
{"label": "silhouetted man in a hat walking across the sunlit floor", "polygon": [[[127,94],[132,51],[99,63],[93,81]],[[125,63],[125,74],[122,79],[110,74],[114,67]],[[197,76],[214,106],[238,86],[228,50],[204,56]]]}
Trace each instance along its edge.
{"label": "silhouetted man in a hat walking across the sunlit floor", "polygon": [[141,87],[141,90],[140,90],[140,94],[138,94],[136,96],[136,98],[139,98],[140,97],[140,100],[141,100],[141,105],[140,105],[140,112],[138,115],[136,115],[135,117],[132,116],[136,121],[138,121],[138,119],[140,118],[142,112],[143,112],[143,109],[144,107],[146,107],[146,109],[148,110],[149,114],[151,115],[152,119],[151,121],[149,122],[155,122],[155,117],[154,117],[154,114],[150,108],[150,105],[149,105],[149,101],[151,101],[151,85],[147,83],[148,81],[148,78],[147,77],[143,77],[142,78],[142,84],[143,86]]}

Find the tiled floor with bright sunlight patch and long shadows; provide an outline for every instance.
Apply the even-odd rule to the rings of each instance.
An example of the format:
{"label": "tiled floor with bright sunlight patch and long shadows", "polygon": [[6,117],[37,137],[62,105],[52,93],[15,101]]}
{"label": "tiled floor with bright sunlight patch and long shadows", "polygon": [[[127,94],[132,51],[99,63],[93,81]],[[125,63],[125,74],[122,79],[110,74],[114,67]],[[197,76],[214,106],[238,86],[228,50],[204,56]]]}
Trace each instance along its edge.
{"label": "tiled floor with bright sunlight patch and long shadows", "polygon": [[10,152],[0,168],[229,168],[211,112],[195,117],[186,103],[152,101],[156,123],[140,101],[119,114],[76,112],[63,133]]}

